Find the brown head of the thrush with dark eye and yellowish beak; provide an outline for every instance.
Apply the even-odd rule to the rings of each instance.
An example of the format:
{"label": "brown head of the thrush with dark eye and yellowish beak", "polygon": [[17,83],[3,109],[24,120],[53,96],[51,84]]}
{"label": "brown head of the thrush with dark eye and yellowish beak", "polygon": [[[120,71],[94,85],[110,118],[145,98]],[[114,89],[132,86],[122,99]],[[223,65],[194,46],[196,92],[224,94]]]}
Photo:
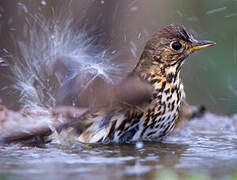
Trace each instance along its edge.
{"label": "brown head of the thrush with dark eye and yellowish beak", "polygon": [[[178,70],[189,54],[215,45],[213,41],[198,41],[182,25],[168,25],[147,42],[137,68],[177,66]],[[140,66],[140,67],[139,67]]]}

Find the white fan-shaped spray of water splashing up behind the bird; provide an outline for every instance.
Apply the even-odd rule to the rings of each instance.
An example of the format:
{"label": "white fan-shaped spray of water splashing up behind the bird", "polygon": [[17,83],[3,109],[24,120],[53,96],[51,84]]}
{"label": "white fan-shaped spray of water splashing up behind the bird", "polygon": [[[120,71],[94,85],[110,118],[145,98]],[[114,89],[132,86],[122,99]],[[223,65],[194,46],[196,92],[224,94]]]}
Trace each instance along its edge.
{"label": "white fan-shaped spray of water splashing up behind the bird", "polygon": [[58,89],[78,74],[89,74],[81,82],[83,90],[98,76],[112,82],[111,72],[118,72],[109,51],[82,28],[75,30],[73,22],[65,15],[50,20],[42,16],[26,18],[25,38],[14,39],[17,53],[10,66],[24,106],[54,107]]}

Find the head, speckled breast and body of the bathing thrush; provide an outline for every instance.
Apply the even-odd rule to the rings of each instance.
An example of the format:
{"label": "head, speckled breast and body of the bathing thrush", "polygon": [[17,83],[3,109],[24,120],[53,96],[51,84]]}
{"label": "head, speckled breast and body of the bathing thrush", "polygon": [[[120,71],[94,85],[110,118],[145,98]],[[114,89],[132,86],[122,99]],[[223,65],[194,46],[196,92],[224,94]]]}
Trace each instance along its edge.
{"label": "head, speckled breast and body of the bathing thrush", "polygon": [[184,114],[186,100],[180,78],[184,62],[193,52],[215,44],[196,40],[183,25],[170,24],[159,29],[146,43],[133,71],[113,88],[115,95],[111,97],[116,97],[118,103],[82,117],[84,125],[80,124],[77,140],[162,141]]}

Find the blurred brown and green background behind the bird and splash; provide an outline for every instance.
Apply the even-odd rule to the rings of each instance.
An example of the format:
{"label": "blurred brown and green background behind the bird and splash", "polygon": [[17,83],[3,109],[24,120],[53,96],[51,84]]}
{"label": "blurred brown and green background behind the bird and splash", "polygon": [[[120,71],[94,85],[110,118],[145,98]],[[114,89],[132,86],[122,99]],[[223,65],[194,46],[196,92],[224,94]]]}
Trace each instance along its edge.
{"label": "blurred brown and green background behind the bird and splash", "polygon": [[187,100],[218,114],[237,112],[236,0],[0,0],[2,104],[19,107],[7,61],[9,54],[17,56],[16,41],[27,38],[27,18],[58,13],[75,19],[77,30],[95,29],[90,36],[116,51],[113,61],[123,64],[124,71],[133,69],[145,42],[167,24],[183,24],[197,39],[215,41],[215,47],[192,55],[182,69]]}

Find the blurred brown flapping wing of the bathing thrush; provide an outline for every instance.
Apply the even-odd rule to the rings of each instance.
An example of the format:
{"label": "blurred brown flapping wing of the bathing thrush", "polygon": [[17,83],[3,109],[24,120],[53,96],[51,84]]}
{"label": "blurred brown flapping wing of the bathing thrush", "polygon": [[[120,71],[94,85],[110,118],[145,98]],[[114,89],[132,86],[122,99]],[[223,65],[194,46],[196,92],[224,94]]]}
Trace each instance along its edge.
{"label": "blurred brown flapping wing of the bathing thrush", "polygon": [[[54,69],[54,73],[60,77],[68,73],[67,65],[61,61],[56,61]],[[98,110],[121,104],[139,106],[148,102],[151,97],[152,86],[134,73],[118,83],[111,83],[101,76],[95,77],[90,72],[78,71],[73,78],[63,80],[56,93],[56,102],[57,105],[75,105]]]}

